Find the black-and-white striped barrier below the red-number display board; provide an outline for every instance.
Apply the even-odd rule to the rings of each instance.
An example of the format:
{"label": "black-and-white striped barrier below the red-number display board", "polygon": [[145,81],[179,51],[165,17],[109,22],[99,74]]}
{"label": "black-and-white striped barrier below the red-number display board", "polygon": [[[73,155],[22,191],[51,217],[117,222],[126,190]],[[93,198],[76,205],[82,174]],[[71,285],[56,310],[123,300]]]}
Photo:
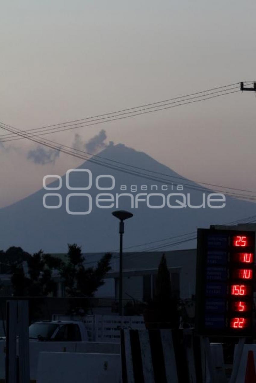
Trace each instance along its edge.
{"label": "black-and-white striped barrier below the red-number display board", "polygon": [[[226,383],[222,344],[211,344],[213,371]],[[200,337],[192,329],[121,330],[123,381],[210,383]]]}

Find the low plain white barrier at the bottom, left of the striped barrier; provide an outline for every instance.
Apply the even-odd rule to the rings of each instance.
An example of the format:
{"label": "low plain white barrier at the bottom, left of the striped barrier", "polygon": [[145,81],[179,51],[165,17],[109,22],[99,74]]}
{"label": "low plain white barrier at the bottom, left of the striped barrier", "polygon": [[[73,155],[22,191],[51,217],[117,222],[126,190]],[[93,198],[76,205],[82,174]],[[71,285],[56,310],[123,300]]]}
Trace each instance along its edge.
{"label": "low plain white barrier at the bottom, left of the striped barrier", "polygon": [[37,383],[119,383],[120,355],[40,352]]}

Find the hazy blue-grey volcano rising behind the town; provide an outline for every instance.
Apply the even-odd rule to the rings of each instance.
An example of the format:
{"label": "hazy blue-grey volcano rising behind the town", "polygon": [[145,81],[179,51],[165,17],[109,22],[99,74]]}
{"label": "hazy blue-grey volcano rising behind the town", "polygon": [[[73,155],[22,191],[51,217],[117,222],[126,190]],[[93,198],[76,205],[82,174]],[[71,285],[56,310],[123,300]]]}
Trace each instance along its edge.
{"label": "hazy blue-grey volcano rising behind the town", "polygon": [[[212,190],[202,190],[202,186],[181,177],[149,155],[122,144],[110,145],[98,155],[101,158],[92,157],[92,161],[86,161],[77,168],[88,169],[92,173],[90,190],[68,190],[66,175],[63,175],[60,190],[42,188],[23,200],[2,208],[0,210],[0,249],[20,246],[29,252],[36,252],[39,249],[52,253],[66,252],[67,243],[77,243],[82,246],[83,252],[107,252],[118,248],[118,220],[111,214],[113,210],[117,210],[117,206],[97,208],[95,205],[97,194],[112,193],[115,199],[116,193],[129,193],[133,196],[138,193],[164,193],[165,195],[190,193],[191,204],[200,205],[203,192],[213,193]],[[123,168],[126,172],[123,171]],[[99,187],[111,187],[114,177],[115,188],[108,191],[98,190],[95,186],[98,175],[112,176],[112,178],[101,177],[98,180]],[[88,185],[87,176],[87,172],[71,173],[69,175],[70,186],[73,188],[86,187]],[[177,190],[177,184],[183,185],[183,191]],[[58,185],[59,180],[54,180],[47,187],[56,188]],[[122,188],[121,185],[123,185]],[[127,187],[126,191],[124,185]],[[144,185],[142,190],[141,185]],[[152,185],[156,186],[151,190]],[[167,187],[168,190],[163,191],[162,185],[166,185],[164,189]],[[136,187],[137,191],[135,191]],[[145,190],[146,187],[148,190]],[[46,193],[59,193],[62,197],[62,206],[54,209],[44,208],[43,197]],[[90,214],[68,214],[66,197],[69,193],[90,194],[92,198]],[[101,204],[109,206],[110,197],[108,199],[108,202],[101,202]],[[174,200],[172,201],[174,202]],[[47,196],[45,202],[47,205],[58,205],[59,197]],[[161,197],[152,196],[150,203],[161,205]],[[173,204],[177,205],[177,203]],[[206,208],[169,208],[167,205],[164,208],[148,208],[143,201],[138,201],[138,208],[136,208],[131,206],[130,196],[123,196],[119,198],[118,209],[128,210],[134,214],[133,218],[125,222],[125,247],[180,236],[188,232],[195,232],[198,227],[208,228],[210,224],[230,223],[256,214],[256,204],[228,196],[226,196],[226,206],[221,209],[212,209],[208,206]],[[88,211],[89,199],[86,196],[71,196],[69,210],[71,212]],[[182,248],[181,246],[183,248],[195,247],[195,241],[185,242],[179,247],[172,248]],[[138,251],[144,249],[146,246],[136,248]],[[131,251],[134,250],[131,249]]]}

